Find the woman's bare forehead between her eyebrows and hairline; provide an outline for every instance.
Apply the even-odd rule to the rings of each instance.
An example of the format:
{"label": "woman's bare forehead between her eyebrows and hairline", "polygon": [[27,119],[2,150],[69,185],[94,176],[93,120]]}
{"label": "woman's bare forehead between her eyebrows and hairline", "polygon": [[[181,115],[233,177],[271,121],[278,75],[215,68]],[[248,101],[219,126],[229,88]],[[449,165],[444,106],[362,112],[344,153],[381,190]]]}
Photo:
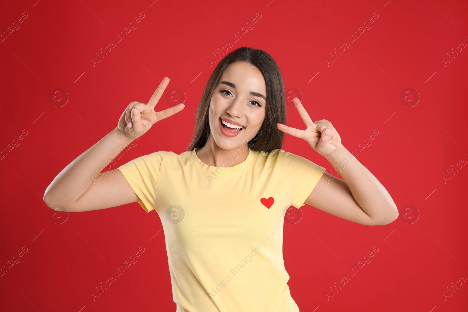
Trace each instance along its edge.
{"label": "woman's bare forehead between her eyebrows and hairline", "polygon": [[220,81],[229,81],[236,85],[238,90],[256,91],[266,94],[265,79],[262,72],[254,65],[245,62],[234,62],[227,65]]}

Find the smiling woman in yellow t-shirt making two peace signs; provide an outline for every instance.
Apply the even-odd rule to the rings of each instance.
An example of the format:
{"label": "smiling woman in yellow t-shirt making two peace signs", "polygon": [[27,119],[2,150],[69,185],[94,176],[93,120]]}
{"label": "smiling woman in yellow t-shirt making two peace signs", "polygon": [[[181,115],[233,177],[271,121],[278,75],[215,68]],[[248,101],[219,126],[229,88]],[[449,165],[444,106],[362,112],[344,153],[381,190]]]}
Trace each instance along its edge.
{"label": "smiling woman in yellow t-shirt making two peace signs", "polygon": [[[387,190],[328,120],[312,122],[295,98],[307,129],[285,125],[279,68],[268,53],[249,47],[232,51],[214,69],[186,152],[154,152],[101,174],[132,140],[183,109],[154,111],[168,83],[164,78],[147,104],[130,103],[116,129],[57,175],[44,202],[73,212],[137,201],[147,212],[156,210],[177,312],[299,311],[282,255],[291,206],[307,203],[364,225],[398,217]],[[344,180],[284,152],[284,133],[306,140],[308,152],[324,156]]]}

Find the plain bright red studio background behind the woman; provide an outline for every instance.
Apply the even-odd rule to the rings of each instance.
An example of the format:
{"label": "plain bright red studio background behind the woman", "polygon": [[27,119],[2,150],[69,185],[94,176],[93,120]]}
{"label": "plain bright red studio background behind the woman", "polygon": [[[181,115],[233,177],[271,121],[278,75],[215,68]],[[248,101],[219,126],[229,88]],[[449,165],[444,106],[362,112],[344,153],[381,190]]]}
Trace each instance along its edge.
{"label": "plain bright red studio background behind the woman", "polygon": [[[146,103],[166,76],[171,79],[166,92],[180,88],[185,109],[158,123],[111,169],[151,152],[184,152],[217,64],[210,67],[208,60],[231,41],[228,52],[241,46],[267,51],[283,73],[285,88],[300,91],[290,95],[300,95],[313,121],[333,123],[349,151],[368,145],[358,160],[392,195],[402,217],[366,226],[303,206],[300,222],[285,223],[284,233],[288,284],[300,310],[467,311],[466,282],[446,300],[442,295],[450,294],[446,287],[452,282],[468,277],[468,168],[453,170],[445,183],[443,178],[450,177],[446,170],[452,165],[468,160],[468,51],[453,53],[445,66],[442,61],[448,62],[446,54],[461,42],[468,43],[467,9],[466,1],[453,0],[32,0],[4,5],[2,33],[23,12],[28,17],[0,43],[0,149],[20,143],[0,160],[0,265],[23,246],[28,251],[0,277],[1,310],[175,311],[157,213],[146,214],[132,203],[71,213],[55,224],[44,191],[117,126],[128,103]],[[116,42],[113,36],[140,12],[145,17],[138,28],[93,66],[95,53]],[[234,42],[231,36],[257,12],[261,18],[254,29]],[[379,17],[372,28],[351,43],[347,36],[374,12]],[[350,46],[327,66],[329,53],[345,40]],[[57,87],[69,96],[62,107],[49,101]],[[408,87],[420,96],[412,107],[400,101]],[[156,109],[178,103],[173,100],[161,98]],[[305,128],[294,107],[288,116],[288,125]],[[379,134],[365,141],[374,129]],[[23,130],[27,134],[14,142]],[[283,149],[333,173],[303,140],[287,136]],[[403,211],[405,205],[416,208]],[[412,223],[416,210],[419,217]],[[140,246],[145,252],[138,262],[93,301],[95,287]],[[372,262],[327,300],[329,287],[350,276],[347,269],[374,246],[379,251]]]}

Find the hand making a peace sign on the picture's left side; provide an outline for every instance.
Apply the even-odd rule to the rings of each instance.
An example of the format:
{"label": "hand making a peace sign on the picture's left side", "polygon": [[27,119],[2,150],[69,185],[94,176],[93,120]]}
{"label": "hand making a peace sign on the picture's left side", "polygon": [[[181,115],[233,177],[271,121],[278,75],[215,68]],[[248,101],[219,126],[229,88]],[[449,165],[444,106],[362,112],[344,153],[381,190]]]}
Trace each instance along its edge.
{"label": "hand making a peace sign on the picture's left side", "polygon": [[140,102],[128,104],[117,125],[117,129],[122,132],[126,138],[129,140],[139,138],[145,134],[154,123],[178,113],[185,107],[183,103],[180,103],[174,107],[161,110],[160,112],[154,110],[156,103],[161,98],[168,84],[169,78],[165,77],[156,91],[154,91],[148,104]]}

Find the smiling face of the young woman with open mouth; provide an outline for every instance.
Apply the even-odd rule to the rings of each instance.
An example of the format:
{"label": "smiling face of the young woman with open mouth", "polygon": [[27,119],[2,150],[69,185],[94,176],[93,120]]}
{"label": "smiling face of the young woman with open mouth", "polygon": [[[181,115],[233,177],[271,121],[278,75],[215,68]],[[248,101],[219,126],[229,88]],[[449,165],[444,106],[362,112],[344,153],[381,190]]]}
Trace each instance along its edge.
{"label": "smiling face of the young woman with open mouth", "polygon": [[229,150],[247,144],[260,130],[265,119],[265,80],[255,66],[234,62],[219,82],[210,103],[210,130],[216,144]]}

